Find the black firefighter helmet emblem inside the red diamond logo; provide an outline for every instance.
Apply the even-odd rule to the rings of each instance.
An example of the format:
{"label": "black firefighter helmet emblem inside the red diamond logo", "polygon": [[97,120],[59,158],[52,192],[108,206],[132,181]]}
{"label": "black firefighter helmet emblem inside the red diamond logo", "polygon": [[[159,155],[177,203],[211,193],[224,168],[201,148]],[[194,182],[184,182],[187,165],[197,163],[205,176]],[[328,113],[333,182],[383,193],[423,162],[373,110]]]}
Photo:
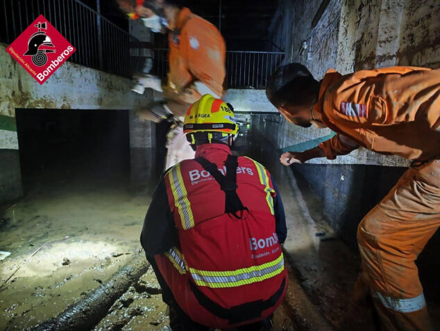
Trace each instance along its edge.
{"label": "black firefighter helmet emblem inside the red diamond logo", "polygon": [[52,40],[49,35],[46,35],[46,23],[35,24],[38,31],[31,35],[28,41],[28,51],[24,55],[32,56],[32,62],[38,67],[42,67],[47,62],[46,53],[55,53],[55,48],[51,49],[48,47],[55,47],[52,44]]}

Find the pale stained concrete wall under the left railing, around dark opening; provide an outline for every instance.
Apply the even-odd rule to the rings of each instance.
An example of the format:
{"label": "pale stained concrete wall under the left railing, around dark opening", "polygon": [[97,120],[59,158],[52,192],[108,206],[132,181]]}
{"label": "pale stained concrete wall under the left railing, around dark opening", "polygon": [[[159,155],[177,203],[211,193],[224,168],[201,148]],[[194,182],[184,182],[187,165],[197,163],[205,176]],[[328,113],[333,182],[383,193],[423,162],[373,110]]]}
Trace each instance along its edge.
{"label": "pale stained concrete wall under the left railing, around dark opening", "polygon": [[[0,67],[0,204],[22,195],[16,108],[133,109],[151,99],[151,95],[130,92],[129,79],[69,62],[40,86],[6,53],[3,44],[0,44]],[[152,146],[152,135],[148,131],[151,124],[146,124],[144,129],[142,135],[130,130],[133,147]]]}

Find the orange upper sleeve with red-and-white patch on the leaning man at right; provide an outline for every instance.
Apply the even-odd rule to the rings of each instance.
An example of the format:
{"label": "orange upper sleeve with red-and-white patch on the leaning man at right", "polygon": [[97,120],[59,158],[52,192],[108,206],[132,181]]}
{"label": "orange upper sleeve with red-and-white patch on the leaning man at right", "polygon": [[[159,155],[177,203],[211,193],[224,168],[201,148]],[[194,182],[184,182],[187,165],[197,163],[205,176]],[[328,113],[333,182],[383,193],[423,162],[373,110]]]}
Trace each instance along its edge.
{"label": "orange upper sleeve with red-and-white patch on the leaning man at right", "polygon": [[[418,73],[425,70],[429,69],[389,67],[344,76],[325,92],[324,113],[330,122],[348,130],[393,124],[402,112],[401,97],[412,93],[413,84],[423,83],[423,75]],[[411,72],[414,74],[406,75]]]}

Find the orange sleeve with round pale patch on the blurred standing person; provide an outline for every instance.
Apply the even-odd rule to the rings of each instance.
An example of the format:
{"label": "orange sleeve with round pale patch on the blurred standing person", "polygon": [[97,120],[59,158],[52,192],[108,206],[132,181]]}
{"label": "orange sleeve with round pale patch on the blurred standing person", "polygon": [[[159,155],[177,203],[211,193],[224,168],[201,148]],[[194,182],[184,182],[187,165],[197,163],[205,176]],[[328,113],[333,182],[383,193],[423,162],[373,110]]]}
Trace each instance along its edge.
{"label": "orange sleeve with round pale patch on the blurred standing person", "polygon": [[226,45],[217,28],[201,19],[190,19],[182,38],[187,52],[187,67],[193,81],[201,81],[212,92],[223,95]]}

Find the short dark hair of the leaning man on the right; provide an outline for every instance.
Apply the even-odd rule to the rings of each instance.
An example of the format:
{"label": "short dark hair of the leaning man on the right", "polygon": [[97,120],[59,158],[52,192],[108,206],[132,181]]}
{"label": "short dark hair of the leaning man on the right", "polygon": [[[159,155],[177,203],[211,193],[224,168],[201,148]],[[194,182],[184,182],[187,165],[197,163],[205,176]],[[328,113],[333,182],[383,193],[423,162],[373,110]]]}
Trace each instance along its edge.
{"label": "short dark hair of the leaning man on the right", "polygon": [[266,87],[267,99],[276,108],[286,104],[304,106],[318,98],[319,82],[300,63],[282,65],[273,72]]}

